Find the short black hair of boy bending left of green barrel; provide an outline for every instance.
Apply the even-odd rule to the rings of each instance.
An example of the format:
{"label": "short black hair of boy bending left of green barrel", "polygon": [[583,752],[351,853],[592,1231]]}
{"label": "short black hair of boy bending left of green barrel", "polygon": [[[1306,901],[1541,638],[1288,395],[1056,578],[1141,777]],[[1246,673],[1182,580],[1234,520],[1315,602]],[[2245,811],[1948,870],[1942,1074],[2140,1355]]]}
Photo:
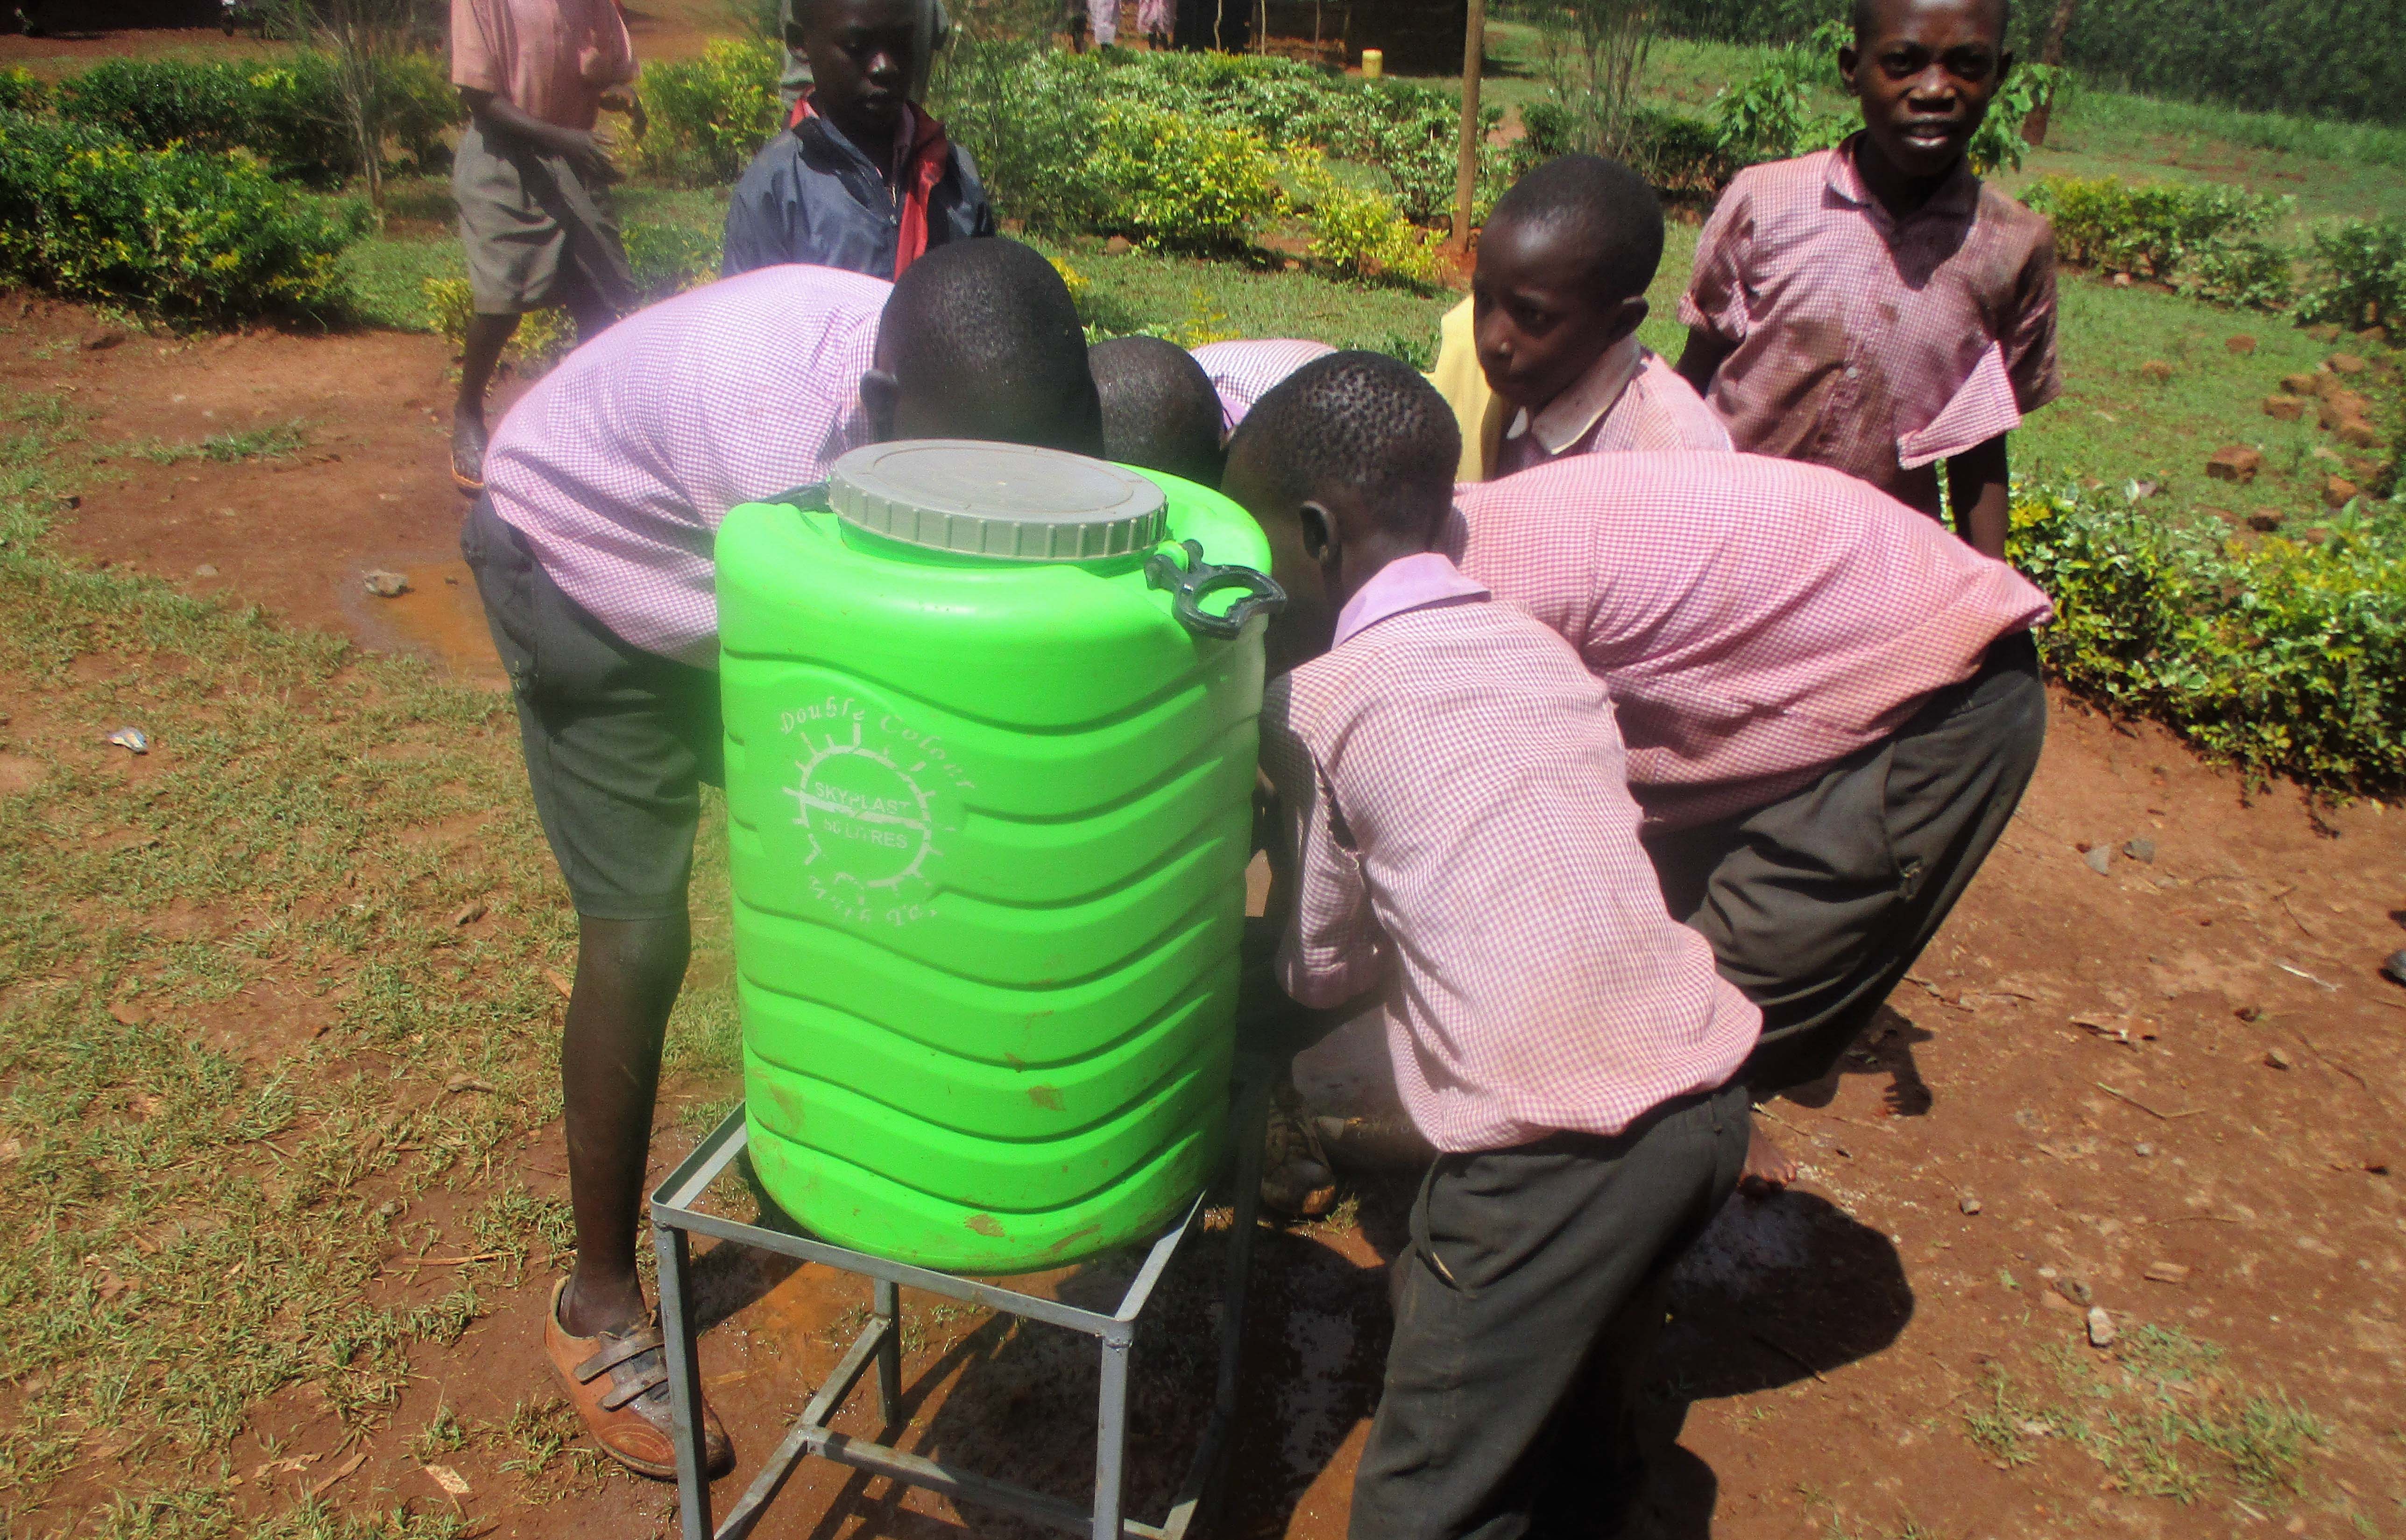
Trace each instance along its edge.
{"label": "short black hair of boy bending left of green barrel", "polygon": [[1001,236],[948,241],[905,267],[878,354],[914,395],[1027,404],[1095,392],[1068,284],[1032,245]]}

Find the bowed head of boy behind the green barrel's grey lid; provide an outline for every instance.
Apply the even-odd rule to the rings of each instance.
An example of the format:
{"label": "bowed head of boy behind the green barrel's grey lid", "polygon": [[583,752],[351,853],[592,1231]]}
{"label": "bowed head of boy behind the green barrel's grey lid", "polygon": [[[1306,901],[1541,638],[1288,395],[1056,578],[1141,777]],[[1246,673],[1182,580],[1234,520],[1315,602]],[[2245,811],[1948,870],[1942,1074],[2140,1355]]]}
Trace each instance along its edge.
{"label": "bowed head of boy behind the green barrel's grey lid", "polygon": [[1102,455],[1078,308],[1054,265],[1018,241],[950,241],[895,279],[861,404],[881,440],[986,438]]}

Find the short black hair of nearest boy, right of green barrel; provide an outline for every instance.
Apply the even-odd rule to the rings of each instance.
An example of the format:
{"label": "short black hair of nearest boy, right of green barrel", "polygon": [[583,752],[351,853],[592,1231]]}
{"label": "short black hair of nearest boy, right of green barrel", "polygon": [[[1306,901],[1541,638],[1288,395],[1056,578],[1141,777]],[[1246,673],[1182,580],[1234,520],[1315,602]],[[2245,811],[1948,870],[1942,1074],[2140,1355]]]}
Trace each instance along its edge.
{"label": "short black hair of nearest boy, right of green barrel", "polygon": [[1227,445],[1263,455],[1282,500],[1345,486],[1400,529],[1453,498],[1463,431],[1417,368],[1388,354],[1328,354],[1254,402]]}

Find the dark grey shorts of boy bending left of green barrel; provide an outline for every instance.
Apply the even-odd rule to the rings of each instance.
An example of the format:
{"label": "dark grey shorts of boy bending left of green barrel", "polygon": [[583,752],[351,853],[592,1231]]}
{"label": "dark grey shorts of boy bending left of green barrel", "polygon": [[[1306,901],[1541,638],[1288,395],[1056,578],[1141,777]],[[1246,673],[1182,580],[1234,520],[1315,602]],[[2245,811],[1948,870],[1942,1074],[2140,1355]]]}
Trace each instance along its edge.
{"label": "dark grey shorts of boy bending left of green barrel", "polygon": [[703,782],[727,784],[719,676],[618,640],[486,498],[460,553],[510,671],[534,813],[577,914],[681,917]]}

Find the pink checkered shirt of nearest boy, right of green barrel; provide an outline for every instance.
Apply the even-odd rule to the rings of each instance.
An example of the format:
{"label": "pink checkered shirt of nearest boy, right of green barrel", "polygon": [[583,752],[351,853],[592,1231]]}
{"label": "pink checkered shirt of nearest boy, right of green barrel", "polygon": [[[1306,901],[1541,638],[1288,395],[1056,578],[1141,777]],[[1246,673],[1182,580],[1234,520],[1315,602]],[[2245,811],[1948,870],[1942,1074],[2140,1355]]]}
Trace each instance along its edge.
{"label": "pink checkered shirt of nearest boy, right of green barrel", "polygon": [[1761,1015],[1663,910],[1612,700],[1511,606],[1427,570],[1400,587],[1422,606],[1369,616],[1261,707],[1294,857],[1287,994],[1383,991],[1395,1088],[1439,1150],[1619,1133],[1725,1083]]}

